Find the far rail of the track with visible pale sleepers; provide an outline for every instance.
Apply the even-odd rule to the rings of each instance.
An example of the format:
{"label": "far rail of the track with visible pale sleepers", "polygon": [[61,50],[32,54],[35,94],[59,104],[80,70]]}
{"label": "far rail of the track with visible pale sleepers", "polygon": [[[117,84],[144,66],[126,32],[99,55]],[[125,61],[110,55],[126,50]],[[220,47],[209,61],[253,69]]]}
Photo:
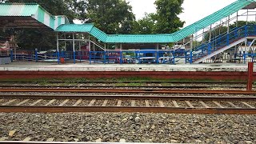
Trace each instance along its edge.
{"label": "far rail of the track with visible pale sleepers", "polygon": [[168,99],[175,99],[175,100],[208,100],[208,101],[256,101],[256,96],[252,97],[239,97],[239,96],[168,96],[168,95],[159,95],[159,96],[152,96],[152,95],[38,95],[38,94],[0,94],[0,98],[3,99],[12,99],[12,98],[19,98],[19,99],[127,99],[127,100],[168,100]]}

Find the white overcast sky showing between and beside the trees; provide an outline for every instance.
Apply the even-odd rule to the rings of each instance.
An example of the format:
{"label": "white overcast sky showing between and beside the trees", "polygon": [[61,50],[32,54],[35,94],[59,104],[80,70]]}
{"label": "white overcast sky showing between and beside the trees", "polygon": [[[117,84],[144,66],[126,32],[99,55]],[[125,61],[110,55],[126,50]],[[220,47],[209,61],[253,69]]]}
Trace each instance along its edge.
{"label": "white overcast sky showing between and beside the trees", "polygon": [[[126,0],[133,6],[136,18],[143,18],[146,13],[154,13],[155,0]],[[182,21],[185,21],[185,26],[188,26],[198,20],[213,14],[215,11],[222,9],[236,0],[185,0],[182,7],[183,13],[179,15]]]}

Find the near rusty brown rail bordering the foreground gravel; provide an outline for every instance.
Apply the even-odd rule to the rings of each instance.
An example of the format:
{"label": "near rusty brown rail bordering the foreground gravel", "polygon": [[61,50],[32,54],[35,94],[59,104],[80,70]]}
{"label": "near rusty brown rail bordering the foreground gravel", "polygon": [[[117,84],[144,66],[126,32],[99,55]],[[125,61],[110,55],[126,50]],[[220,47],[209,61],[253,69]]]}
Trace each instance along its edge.
{"label": "near rusty brown rail bordering the foreground gravel", "polygon": [[176,113],[176,114],[256,114],[256,109],[243,108],[178,108],[178,107],[131,107],[131,106],[0,106],[4,113]]}

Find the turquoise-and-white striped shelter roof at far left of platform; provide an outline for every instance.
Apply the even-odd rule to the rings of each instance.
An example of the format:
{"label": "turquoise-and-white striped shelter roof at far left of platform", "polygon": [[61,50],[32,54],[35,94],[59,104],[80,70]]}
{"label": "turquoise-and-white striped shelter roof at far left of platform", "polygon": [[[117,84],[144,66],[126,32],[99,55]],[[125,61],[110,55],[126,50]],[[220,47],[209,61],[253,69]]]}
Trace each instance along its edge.
{"label": "turquoise-and-white striped shelter roof at far left of platform", "polygon": [[69,24],[66,16],[54,16],[36,3],[0,3],[0,17],[30,17],[53,30]]}

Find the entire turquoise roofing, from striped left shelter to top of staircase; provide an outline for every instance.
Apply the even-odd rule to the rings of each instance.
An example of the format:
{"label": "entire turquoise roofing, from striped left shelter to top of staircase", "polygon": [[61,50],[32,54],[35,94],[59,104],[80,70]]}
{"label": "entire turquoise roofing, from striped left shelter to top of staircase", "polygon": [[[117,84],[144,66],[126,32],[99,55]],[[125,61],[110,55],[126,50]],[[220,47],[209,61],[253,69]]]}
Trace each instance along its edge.
{"label": "entire turquoise roofing, from striped left shelter to top of staircase", "polygon": [[256,2],[256,0],[233,2],[222,10],[218,10],[214,14],[210,14],[173,34],[106,34],[93,24],[69,24],[66,16],[53,16],[38,4],[0,3],[0,16],[31,17],[58,32],[89,33],[106,43],[167,43],[178,42],[182,38],[186,38],[190,34],[194,34],[196,31],[202,30],[202,28],[210,26],[230,14],[234,14],[252,2]]}

